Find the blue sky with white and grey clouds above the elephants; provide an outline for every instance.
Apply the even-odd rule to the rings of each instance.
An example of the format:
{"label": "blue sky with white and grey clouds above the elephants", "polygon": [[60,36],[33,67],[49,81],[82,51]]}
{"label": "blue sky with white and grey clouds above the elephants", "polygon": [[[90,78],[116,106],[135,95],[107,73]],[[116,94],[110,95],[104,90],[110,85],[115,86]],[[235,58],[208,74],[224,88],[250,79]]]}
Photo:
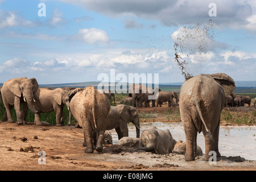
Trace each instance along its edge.
{"label": "blue sky with white and grey clouds above the elephants", "polygon": [[[38,16],[41,2],[46,17]],[[216,17],[208,15],[211,2]],[[183,45],[193,49],[183,50],[193,75],[224,72],[235,81],[256,80],[255,9],[255,1],[242,0],[0,0],[0,82],[23,76],[39,84],[97,81],[110,69],[182,82],[174,42],[185,27],[193,34],[197,23],[201,36],[189,35]],[[209,19],[213,39],[203,28]]]}

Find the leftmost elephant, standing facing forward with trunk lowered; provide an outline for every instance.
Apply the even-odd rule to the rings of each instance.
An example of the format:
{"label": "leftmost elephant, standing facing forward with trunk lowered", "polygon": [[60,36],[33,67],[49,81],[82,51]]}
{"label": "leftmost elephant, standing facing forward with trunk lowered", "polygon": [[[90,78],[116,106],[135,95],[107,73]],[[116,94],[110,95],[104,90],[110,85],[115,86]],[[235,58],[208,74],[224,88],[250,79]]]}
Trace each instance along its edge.
{"label": "leftmost elephant, standing facing forward with trunk lowered", "polygon": [[[25,124],[27,117],[27,108],[34,114],[38,113],[33,107],[34,93],[39,89],[38,81],[36,78],[21,77],[7,80],[1,89],[3,105],[5,105],[8,122],[14,122],[11,117],[11,109],[14,107],[16,111],[17,124]],[[20,106],[22,105],[22,112]]]}

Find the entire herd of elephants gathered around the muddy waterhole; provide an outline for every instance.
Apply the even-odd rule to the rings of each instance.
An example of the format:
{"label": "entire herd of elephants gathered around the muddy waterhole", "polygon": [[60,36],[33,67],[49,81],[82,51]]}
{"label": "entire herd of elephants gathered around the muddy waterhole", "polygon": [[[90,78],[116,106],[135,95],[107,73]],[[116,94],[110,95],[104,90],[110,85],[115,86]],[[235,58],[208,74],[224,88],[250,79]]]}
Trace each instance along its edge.
{"label": "entire herd of elephants gathered around the muddy waterhole", "polygon": [[[135,88],[139,89],[136,90]],[[106,139],[106,130],[115,129],[120,145],[138,147],[140,150],[156,154],[176,152],[184,154],[186,161],[195,160],[195,156],[203,155],[197,146],[197,133],[203,132],[205,138],[205,160],[209,160],[210,151],[218,151],[218,134],[220,129],[220,114],[224,105],[241,106],[248,98],[236,97],[234,80],[225,73],[212,75],[197,75],[185,79],[179,96],[176,92],[158,92],[156,106],[168,102],[169,106],[179,102],[180,117],[183,123],[186,142],[176,141],[170,131],[152,127],[140,134],[139,114],[136,107],[147,107],[150,101],[155,106],[155,100],[148,100],[148,96],[156,91],[148,92],[146,86],[131,84],[129,96],[123,98],[121,104],[110,106],[109,97],[112,93],[98,92],[94,86],[85,88],[39,88],[35,78],[13,78],[6,81],[1,88],[5,114],[2,121],[14,122],[11,109],[16,111],[16,123],[25,124],[27,109],[35,114],[35,125],[44,125],[39,114],[55,111],[56,126],[64,125],[63,107],[69,109],[69,124],[72,115],[84,133],[84,152],[102,152]],[[143,89],[146,91],[142,92]],[[227,99],[226,99],[227,98]],[[230,99],[230,100],[229,100]],[[123,103],[123,104],[122,104]],[[130,103],[130,105],[126,105]],[[250,103],[250,102],[249,102]],[[249,104],[250,105],[250,104]],[[22,106],[22,109],[20,109]],[[137,138],[128,136],[127,123],[136,126]]]}

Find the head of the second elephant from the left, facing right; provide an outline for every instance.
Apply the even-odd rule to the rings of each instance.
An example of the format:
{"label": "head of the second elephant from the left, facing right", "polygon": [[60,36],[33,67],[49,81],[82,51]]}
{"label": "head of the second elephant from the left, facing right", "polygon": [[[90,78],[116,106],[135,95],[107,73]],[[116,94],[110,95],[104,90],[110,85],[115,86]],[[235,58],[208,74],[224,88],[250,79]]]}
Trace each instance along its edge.
{"label": "head of the second elephant from the left, facing right", "polygon": [[61,88],[57,88],[52,90],[53,98],[57,102],[58,105],[66,105],[69,109],[69,92],[67,90],[63,90]]}

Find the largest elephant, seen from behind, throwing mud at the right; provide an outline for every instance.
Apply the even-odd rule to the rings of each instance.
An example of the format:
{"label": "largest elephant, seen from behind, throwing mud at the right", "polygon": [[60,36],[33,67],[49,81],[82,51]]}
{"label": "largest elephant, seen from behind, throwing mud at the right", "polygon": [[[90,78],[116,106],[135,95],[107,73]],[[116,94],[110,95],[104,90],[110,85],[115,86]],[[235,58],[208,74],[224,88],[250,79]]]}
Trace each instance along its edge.
{"label": "largest elephant, seen from behind, throwing mud at the right", "polygon": [[234,80],[225,73],[200,74],[186,79],[180,89],[180,117],[186,137],[185,160],[195,160],[197,132],[205,138],[205,160],[210,151],[218,156],[220,115],[225,97],[236,88]]}

